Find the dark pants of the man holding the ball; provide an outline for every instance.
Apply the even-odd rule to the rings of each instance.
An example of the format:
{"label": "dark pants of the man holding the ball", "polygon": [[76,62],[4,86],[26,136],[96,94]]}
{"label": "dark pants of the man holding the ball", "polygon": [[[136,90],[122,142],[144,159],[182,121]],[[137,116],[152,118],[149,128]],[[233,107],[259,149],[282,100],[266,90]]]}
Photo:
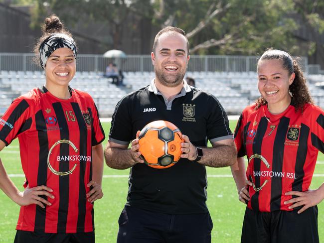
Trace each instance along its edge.
{"label": "dark pants of the man holding the ball", "polygon": [[119,220],[117,243],[210,243],[209,213],[162,214],[126,206]]}

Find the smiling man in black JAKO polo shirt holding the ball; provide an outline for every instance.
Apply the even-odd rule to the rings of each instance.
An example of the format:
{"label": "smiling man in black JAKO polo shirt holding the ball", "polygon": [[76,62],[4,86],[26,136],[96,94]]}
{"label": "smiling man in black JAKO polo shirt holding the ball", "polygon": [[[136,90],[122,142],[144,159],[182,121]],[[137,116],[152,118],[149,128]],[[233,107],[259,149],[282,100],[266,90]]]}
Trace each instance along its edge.
{"label": "smiling man in black JAKO polo shirt holding the ball", "polygon": [[[236,149],[218,100],[183,80],[188,51],[182,29],[162,29],[151,54],[155,79],[124,97],[115,108],[106,163],[116,169],[131,168],[118,243],[211,242],[205,166],[233,164]],[[167,169],[147,166],[139,157],[139,132],[157,120],[174,123],[183,134],[181,159]],[[213,148],[206,147],[207,139]]]}

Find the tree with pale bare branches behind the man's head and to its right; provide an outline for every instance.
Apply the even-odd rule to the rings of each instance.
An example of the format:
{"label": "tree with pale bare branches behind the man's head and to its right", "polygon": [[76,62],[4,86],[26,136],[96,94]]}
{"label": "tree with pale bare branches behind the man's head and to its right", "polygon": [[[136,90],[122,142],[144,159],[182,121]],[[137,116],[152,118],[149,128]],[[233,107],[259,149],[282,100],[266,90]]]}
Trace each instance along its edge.
{"label": "tree with pale bare branches behind the man's head and to its right", "polygon": [[160,24],[170,24],[172,20],[172,25],[187,30],[191,53],[255,55],[269,47],[294,49],[293,32],[298,26],[287,17],[287,12],[293,9],[292,1],[158,2]]}

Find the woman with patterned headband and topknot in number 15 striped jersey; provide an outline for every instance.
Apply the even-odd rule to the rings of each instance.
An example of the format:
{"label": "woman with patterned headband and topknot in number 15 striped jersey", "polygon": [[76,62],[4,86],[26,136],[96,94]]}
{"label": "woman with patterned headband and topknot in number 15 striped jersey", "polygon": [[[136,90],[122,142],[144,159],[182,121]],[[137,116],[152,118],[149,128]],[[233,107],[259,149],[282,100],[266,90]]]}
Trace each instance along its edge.
{"label": "woman with patterned headband and topknot in number 15 striped jersey", "polygon": [[105,138],[98,112],[69,86],[77,47],[57,16],[45,19],[35,51],[45,85],[15,99],[0,120],[0,150],[18,137],[26,178],[20,192],[0,161],[0,188],[21,206],[14,242],[94,243]]}

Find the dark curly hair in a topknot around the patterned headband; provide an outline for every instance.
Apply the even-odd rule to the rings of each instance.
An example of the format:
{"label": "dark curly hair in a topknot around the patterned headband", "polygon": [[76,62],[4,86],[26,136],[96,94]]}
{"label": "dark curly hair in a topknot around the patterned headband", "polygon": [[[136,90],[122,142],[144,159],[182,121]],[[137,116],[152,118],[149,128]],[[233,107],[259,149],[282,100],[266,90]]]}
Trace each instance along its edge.
{"label": "dark curly hair in a topknot around the patterned headband", "polygon": [[49,17],[45,18],[45,23],[42,25],[42,36],[39,38],[37,43],[34,46],[34,54],[35,57],[33,58],[33,61],[40,66],[39,64],[39,47],[41,43],[51,34],[53,33],[63,33],[70,37],[72,37],[71,33],[64,28],[63,23],[59,19],[58,16],[55,14],[50,15]]}

